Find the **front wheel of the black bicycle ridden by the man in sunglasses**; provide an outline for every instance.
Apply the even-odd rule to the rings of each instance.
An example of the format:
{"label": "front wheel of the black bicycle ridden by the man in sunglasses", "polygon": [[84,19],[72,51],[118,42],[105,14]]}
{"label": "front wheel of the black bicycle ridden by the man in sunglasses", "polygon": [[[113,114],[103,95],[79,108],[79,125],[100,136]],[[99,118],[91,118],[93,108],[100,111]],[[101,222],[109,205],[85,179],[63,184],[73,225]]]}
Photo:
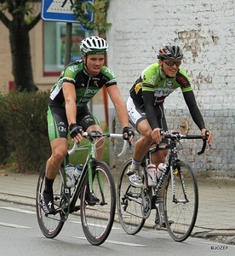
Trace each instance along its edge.
{"label": "front wheel of the black bicycle ridden by the man in sunglasses", "polygon": [[174,173],[175,200],[169,173],[164,190],[164,218],[169,236],[175,241],[184,241],[190,236],[198,215],[198,183],[184,161],[177,161]]}

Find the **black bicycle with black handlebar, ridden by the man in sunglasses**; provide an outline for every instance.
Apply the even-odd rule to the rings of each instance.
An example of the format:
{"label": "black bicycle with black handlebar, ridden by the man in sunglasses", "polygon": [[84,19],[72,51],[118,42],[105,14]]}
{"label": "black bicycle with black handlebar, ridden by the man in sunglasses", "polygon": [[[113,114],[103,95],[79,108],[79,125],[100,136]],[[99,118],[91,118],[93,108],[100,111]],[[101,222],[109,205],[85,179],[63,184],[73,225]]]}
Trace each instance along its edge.
{"label": "black bicycle with black handlebar, ridden by the man in sunglasses", "polygon": [[[156,208],[156,220],[159,227],[166,229],[175,241],[184,241],[191,235],[198,215],[198,183],[192,168],[186,161],[178,158],[177,152],[182,148],[181,139],[203,139],[202,135],[182,135],[179,132],[165,133],[169,144],[150,148],[141,163],[144,188],[135,188],[129,184],[127,170],[131,165],[128,160],[123,166],[117,182],[117,213],[123,230],[135,235],[145,224],[152,209]],[[203,148],[198,154],[203,154]],[[158,150],[169,149],[166,169],[158,179],[154,190],[148,184],[146,166],[151,163],[151,154]],[[158,195],[163,195],[163,216],[158,209]],[[153,190],[153,192],[152,192]]]}

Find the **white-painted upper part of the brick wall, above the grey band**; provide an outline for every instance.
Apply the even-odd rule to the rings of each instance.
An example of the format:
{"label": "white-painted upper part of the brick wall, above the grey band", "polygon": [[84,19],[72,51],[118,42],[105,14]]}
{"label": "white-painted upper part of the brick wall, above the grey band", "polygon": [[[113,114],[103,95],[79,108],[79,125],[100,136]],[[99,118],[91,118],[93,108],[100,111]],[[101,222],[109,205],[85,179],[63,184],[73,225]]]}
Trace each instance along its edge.
{"label": "white-painted upper part of the brick wall, above the grey band", "polygon": [[[123,97],[147,65],[157,61],[161,44],[175,42],[184,51],[182,68],[190,75],[204,109],[235,108],[235,4],[232,0],[111,0],[107,32],[108,65]],[[181,91],[166,105],[182,108]]]}

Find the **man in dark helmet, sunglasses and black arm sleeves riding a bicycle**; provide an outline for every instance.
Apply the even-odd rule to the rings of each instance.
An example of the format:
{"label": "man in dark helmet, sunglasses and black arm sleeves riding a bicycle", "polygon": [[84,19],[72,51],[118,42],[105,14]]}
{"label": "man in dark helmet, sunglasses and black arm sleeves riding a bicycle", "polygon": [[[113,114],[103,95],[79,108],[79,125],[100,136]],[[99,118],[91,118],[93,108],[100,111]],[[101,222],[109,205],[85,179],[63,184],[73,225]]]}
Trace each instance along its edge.
{"label": "man in dark helmet, sunglasses and black arm sleeves riding a bicycle", "polygon": [[[192,119],[205,137],[206,127],[198,108],[192,86],[186,72],[180,68],[183,54],[175,44],[163,44],[158,52],[158,63],[153,63],[141,73],[129,90],[127,108],[129,121],[141,135],[135,144],[132,165],[128,170],[129,183],[142,187],[140,162],[152,142],[160,143],[160,130],[168,131],[163,102],[175,89],[181,88]],[[213,140],[209,132],[208,143]],[[152,162],[158,167],[165,162],[167,150],[152,154]]]}

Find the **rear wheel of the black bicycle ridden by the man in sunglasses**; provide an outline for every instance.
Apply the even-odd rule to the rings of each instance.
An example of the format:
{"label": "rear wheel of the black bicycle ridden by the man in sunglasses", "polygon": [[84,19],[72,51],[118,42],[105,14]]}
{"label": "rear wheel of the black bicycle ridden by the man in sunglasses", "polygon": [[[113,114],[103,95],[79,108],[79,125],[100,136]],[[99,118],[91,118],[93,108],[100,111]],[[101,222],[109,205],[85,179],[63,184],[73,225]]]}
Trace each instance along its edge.
{"label": "rear wheel of the black bicycle ridden by the man in sunglasses", "polygon": [[129,185],[126,174],[131,160],[128,160],[117,181],[117,214],[123,230],[129,235],[137,234],[145,224],[142,215],[141,189]]}

